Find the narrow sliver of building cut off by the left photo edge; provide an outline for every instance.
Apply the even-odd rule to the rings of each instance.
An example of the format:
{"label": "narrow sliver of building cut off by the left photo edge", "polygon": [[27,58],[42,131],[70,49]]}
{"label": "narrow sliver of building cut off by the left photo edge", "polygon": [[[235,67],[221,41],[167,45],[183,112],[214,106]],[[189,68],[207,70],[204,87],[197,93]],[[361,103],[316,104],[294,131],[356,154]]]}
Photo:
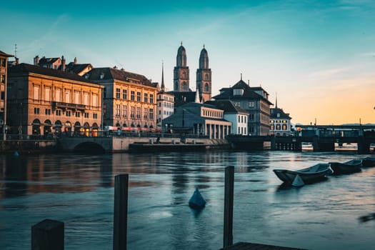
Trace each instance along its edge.
{"label": "narrow sliver of building cut off by the left photo edge", "polygon": [[6,74],[9,57],[12,57],[12,55],[0,51],[0,133],[3,134],[2,139],[5,139],[6,132]]}

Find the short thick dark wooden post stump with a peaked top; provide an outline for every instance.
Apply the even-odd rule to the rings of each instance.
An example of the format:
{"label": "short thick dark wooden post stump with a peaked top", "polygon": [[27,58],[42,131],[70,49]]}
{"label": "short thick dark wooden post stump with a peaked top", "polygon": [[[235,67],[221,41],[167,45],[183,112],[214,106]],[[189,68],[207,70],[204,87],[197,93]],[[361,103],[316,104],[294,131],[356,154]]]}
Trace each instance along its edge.
{"label": "short thick dark wooden post stump with a peaked top", "polygon": [[64,250],[64,222],[45,219],[31,226],[31,250]]}

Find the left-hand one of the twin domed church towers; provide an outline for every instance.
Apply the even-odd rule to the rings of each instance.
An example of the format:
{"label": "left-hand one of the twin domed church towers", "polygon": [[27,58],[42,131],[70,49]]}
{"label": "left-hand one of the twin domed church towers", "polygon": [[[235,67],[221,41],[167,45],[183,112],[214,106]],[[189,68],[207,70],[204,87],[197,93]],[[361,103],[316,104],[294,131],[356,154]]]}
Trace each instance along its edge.
{"label": "left-hand one of the twin domed church towers", "polygon": [[175,92],[187,92],[189,89],[189,67],[186,66],[186,50],[184,46],[179,47],[174,67],[174,87]]}

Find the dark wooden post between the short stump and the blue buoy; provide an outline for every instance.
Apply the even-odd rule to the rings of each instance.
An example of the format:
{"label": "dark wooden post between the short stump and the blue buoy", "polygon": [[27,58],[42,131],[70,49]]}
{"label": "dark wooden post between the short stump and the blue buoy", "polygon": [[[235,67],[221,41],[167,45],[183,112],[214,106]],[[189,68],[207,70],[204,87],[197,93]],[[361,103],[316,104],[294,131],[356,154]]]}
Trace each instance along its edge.
{"label": "dark wooden post between the short stump and the blue buoy", "polygon": [[126,250],[129,174],[114,177],[114,250]]}

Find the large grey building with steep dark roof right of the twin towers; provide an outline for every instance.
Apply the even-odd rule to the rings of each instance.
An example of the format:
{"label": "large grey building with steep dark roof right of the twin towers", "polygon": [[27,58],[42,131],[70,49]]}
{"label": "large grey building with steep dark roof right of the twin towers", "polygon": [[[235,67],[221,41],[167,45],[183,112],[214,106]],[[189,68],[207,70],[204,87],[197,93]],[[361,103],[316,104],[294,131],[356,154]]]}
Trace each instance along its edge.
{"label": "large grey building with steep dark roof right of the twin towers", "polygon": [[265,136],[269,134],[269,117],[271,102],[269,94],[260,86],[251,87],[242,79],[230,88],[220,89],[215,100],[231,100],[237,106],[249,112],[248,133]]}

